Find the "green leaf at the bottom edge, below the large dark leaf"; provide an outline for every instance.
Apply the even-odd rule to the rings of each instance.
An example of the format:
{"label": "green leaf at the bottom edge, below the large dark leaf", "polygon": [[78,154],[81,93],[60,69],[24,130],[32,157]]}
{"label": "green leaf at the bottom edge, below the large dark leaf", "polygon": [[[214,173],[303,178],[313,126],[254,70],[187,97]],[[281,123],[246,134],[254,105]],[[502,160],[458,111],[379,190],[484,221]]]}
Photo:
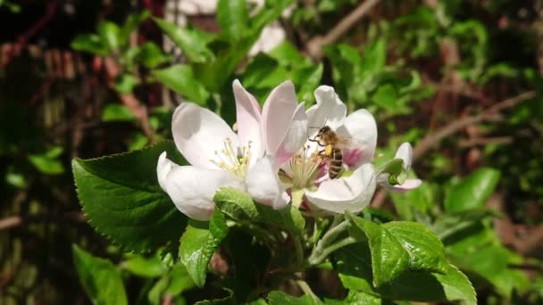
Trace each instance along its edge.
{"label": "green leaf at the bottom edge, below the large dark leaf", "polygon": [[121,272],[109,260],[90,255],[72,245],[73,264],[88,298],[95,304],[128,304]]}

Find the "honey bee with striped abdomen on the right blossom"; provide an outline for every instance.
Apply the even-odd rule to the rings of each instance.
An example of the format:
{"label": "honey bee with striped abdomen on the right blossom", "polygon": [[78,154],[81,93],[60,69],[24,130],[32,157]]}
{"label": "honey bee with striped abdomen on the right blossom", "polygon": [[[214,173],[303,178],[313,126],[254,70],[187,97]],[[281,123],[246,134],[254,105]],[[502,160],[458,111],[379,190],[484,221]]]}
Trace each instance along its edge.
{"label": "honey bee with striped abdomen on the right blossom", "polygon": [[324,147],[319,152],[325,161],[328,162],[328,176],[330,179],[336,178],[343,169],[343,149],[347,146],[355,145],[356,141],[344,136],[338,136],[329,126],[319,129],[319,132],[309,141]]}

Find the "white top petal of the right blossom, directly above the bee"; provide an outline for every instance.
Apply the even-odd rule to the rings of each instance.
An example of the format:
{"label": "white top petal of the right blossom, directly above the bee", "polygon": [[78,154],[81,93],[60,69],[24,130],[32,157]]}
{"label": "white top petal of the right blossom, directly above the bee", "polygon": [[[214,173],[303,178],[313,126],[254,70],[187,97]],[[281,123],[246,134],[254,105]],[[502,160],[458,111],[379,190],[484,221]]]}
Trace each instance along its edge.
{"label": "white top petal of the right blossom, directly above the bee", "polygon": [[324,125],[333,130],[338,128],[347,115],[347,106],[341,102],[333,87],[321,86],[315,90],[316,104],[307,110],[311,134],[316,134]]}

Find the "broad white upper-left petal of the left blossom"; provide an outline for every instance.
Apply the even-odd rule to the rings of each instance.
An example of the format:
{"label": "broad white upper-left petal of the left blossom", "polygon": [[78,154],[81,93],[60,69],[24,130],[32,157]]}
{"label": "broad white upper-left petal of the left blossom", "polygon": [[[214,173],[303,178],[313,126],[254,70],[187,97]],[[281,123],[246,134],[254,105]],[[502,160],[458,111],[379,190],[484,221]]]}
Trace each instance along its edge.
{"label": "broad white upper-left petal of the left blossom", "polygon": [[238,151],[238,135],[213,111],[194,103],[181,103],[173,113],[171,132],[177,148],[192,165],[203,169],[218,169],[211,160],[215,152],[224,149],[230,138],[232,148]]}

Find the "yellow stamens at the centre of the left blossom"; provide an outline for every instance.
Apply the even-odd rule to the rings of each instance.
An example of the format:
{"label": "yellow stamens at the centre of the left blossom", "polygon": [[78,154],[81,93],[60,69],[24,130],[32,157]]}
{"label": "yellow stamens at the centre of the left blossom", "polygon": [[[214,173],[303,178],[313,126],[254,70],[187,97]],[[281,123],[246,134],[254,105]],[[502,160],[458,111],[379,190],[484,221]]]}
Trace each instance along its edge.
{"label": "yellow stamens at the centre of the left blossom", "polygon": [[251,144],[252,142],[249,141],[246,146],[241,147],[241,152],[238,152],[234,148],[230,137],[227,137],[223,142],[221,151],[215,151],[215,159],[210,161],[220,169],[245,178],[251,160]]}

